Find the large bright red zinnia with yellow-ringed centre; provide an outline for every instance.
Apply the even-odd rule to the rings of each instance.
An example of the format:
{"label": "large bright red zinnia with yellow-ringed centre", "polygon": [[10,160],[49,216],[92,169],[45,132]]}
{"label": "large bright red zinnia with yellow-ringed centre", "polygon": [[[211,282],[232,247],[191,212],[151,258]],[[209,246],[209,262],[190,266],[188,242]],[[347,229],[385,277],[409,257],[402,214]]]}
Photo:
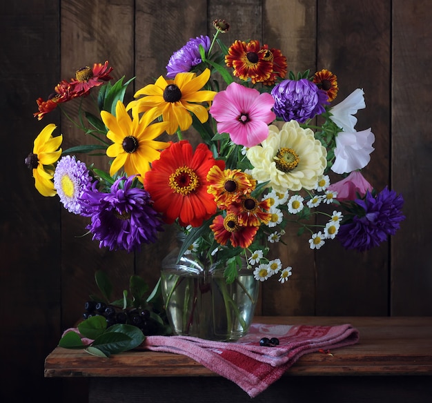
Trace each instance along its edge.
{"label": "large bright red zinnia with yellow-ringed centre", "polygon": [[216,161],[206,144],[194,153],[187,140],[171,144],[153,161],[144,188],[167,224],[178,219],[181,226],[196,227],[216,213],[215,199],[207,192],[207,173],[214,165],[224,169],[224,161]]}

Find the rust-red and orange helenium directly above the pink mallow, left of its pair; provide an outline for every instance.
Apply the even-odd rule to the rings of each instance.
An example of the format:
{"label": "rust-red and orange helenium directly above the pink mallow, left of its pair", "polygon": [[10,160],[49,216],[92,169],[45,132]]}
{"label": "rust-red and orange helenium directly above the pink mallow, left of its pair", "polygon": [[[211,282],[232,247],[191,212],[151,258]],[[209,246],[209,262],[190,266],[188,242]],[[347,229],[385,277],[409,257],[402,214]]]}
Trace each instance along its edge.
{"label": "rust-red and orange helenium directly above the pink mallow, left of its pair", "polygon": [[251,79],[252,83],[267,81],[273,72],[273,62],[266,59],[267,50],[259,41],[235,41],[228,49],[225,63],[233,67],[233,75],[239,79]]}

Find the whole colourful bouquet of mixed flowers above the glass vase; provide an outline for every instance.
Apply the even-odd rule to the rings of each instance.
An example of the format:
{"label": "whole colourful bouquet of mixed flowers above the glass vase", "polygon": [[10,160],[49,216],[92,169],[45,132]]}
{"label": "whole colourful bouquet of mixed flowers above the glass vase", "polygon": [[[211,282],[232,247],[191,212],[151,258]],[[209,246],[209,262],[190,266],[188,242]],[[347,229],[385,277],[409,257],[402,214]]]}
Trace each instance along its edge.
{"label": "whole colourful bouquet of mixed flowers above the glass vase", "polygon": [[[279,49],[257,40],[227,47],[229,24],[213,26],[213,38],[190,39],[132,101],[124,101],[132,79],[112,84],[108,61],[37,99],[40,120],[99,89],[96,114],[80,107],[77,119],[68,116],[98,144],[62,150],[53,124],[35,139],[26,164],[39,193],[88,217],[92,238],[112,250],[157,242],[173,224],[184,233],[179,257],[223,266],[228,284],[244,261],[258,281],[286,282],[292,268],[267,256],[287,226],[308,233],[311,249],[339,239],[367,250],[394,235],[402,196],[375,190],[360,173],[374,141],[371,128],[355,129],[362,89],[335,104],[332,72],[288,72]],[[190,128],[199,133],[195,148]],[[158,139],[164,132],[170,141]],[[106,167],[84,164],[79,153],[103,153]],[[330,184],[330,171],[341,180]],[[311,220],[317,214],[325,222]]]}

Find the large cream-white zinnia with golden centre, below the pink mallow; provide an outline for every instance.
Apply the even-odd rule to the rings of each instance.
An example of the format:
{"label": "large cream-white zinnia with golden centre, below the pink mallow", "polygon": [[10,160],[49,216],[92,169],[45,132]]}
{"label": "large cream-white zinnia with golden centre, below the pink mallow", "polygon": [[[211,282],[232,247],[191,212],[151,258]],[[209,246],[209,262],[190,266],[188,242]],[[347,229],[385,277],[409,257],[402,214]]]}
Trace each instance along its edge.
{"label": "large cream-white zinnia with golden centre, below the pink mallow", "polygon": [[279,193],[313,189],[327,165],[326,148],[297,121],[286,122],[281,130],[271,125],[268,130],[262,144],[246,153],[254,167],[253,177],[260,183],[270,181],[268,186]]}

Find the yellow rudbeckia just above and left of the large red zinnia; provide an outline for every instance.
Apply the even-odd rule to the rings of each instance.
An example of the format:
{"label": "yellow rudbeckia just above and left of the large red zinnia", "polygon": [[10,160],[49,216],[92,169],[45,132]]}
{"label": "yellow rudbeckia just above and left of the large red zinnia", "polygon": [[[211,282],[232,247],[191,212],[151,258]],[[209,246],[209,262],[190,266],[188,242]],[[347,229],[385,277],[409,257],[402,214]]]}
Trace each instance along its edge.
{"label": "yellow rudbeckia just above and left of the large red zinnia", "polygon": [[150,124],[153,119],[132,111],[132,119],[121,101],[117,101],[115,116],[105,110],[101,111],[101,118],[108,128],[106,137],[114,144],[106,150],[108,157],[115,158],[110,166],[110,175],[114,175],[121,167],[128,176],[140,174],[142,181],[144,174],[150,170],[150,163],[159,159],[160,150],[169,146],[164,141],[154,139],[161,135],[168,127],[165,122]]}

